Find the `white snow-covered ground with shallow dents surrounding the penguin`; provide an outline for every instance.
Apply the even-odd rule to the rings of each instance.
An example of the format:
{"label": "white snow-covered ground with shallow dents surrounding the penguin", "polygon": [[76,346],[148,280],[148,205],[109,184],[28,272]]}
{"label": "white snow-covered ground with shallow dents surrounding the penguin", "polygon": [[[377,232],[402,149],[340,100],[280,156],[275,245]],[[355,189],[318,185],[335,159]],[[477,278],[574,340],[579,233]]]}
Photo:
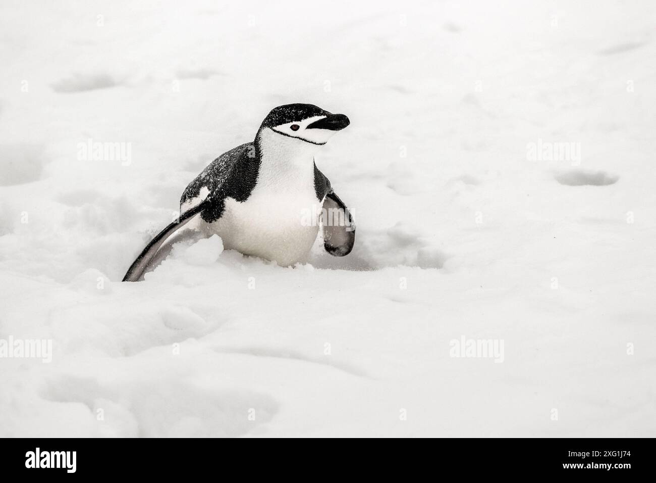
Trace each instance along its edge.
{"label": "white snow-covered ground with shallow dents surrounding the penguin", "polygon": [[[0,359],[0,436],[656,436],[655,58],[651,0],[3,1],[0,340],[52,361]],[[121,283],[295,102],[350,117],[352,254]]]}

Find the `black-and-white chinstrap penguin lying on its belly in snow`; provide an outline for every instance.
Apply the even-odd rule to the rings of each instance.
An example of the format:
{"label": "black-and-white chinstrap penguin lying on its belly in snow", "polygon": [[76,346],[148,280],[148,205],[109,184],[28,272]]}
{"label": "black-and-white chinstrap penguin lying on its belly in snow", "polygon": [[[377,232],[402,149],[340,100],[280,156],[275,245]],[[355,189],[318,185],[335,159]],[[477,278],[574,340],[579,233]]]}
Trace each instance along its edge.
{"label": "black-and-white chinstrap penguin lying on its belly in snow", "polygon": [[[324,248],[348,255],[355,225],[348,208],[314,163],[316,150],[350,121],[313,104],[285,104],[269,112],[255,141],[224,152],[182,193],[180,218],[161,231],[128,269],[123,281],[138,281],[161,246],[186,225],[203,236],[218,234],[226,250],[288,266],[306,262],[323,213]],[[321,210],[323,208],[323,210]],[[339,223],[326,213],[341,210]],[[333,219],[333,217],[329,217]]]}

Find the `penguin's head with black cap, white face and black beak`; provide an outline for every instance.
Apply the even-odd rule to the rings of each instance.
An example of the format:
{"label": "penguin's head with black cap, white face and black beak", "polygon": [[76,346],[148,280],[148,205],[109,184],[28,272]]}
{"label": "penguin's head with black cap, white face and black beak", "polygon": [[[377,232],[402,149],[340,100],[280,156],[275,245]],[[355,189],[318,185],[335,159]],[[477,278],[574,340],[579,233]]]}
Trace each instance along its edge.
{"label": "penguin's head with black cap, white face and black beak", "polygon": [[260,131],[268,128],[299,141],[324,145],[333,134],[349,124],[344,114],[332,114],[314,104],[285,104],[269,112]]}

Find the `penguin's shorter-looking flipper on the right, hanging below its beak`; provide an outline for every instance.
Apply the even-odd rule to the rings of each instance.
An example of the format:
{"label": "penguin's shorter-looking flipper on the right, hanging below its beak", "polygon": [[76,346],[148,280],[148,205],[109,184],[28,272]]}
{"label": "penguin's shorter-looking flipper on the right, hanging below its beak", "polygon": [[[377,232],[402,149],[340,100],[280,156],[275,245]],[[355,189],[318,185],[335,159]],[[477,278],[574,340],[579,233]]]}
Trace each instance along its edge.
{"label": "penguin's shorter-looking flipper on the right, hanging below its beak", "polygon": [[332,189],[323,200],[321,216],[323,248],[333,256],[350,254],[356,242],[356,223],[344,202]]}

